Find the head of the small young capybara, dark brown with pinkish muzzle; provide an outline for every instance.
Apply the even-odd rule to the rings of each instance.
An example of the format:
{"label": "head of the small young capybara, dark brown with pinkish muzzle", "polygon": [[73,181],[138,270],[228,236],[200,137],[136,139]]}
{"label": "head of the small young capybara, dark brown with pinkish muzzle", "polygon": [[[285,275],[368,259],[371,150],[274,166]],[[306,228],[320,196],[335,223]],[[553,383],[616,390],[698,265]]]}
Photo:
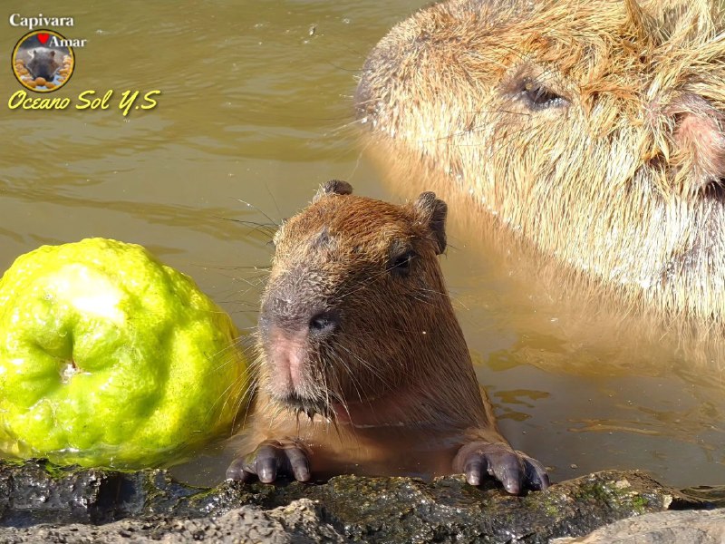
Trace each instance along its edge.
{"label": "head of the small young capybara, dark brown with pinkish muzzle", "polygon": [[436,369],[441,352],[466,350],[437,260],[445,203],[351,193],[330,181],[285,221],[262,296],[262,387],[310,416],[334,417]]}

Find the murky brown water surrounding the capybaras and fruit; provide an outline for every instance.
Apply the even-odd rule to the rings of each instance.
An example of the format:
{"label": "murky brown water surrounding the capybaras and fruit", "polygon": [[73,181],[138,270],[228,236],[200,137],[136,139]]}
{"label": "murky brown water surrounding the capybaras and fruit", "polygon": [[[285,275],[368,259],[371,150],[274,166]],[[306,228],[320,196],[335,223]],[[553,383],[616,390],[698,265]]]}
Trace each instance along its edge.
{"label": "murky brown water surrounding the capybaras and fruit", "polygon": [[[73,28],[57,30],[88,39],[72,81],[52,96],[115,95],[108,110],[11,111],[20,86],[9,63],[0,73],[0,268],[41,244],[136,242],[194,277],[240,328],[254,326],[255,267],[271,247],[246,221],[289,217],[332,178],[395,201],[418,190],[385,181],[362,155],[352,95],[366,53],[423,4],[5,3],[8,57],[24,34],[7,24],[11,13],[73,15]],[[159,104],[124,117],[127,90],[160,90]],[[627,332],[627,316],[587,311],[576,294],[562,300],[556,281],[542,288],[522,274],[536,266],[516,250],[482,241],[485,226],[457,220],[464,209],[450,213],[444,272],[479,379],[518,449],[555,480],[643,468],[676,485],[725,483],[721,361],[679,349],[667,331]],[[210,449],[176,471],[210,483],[227,461]]]}

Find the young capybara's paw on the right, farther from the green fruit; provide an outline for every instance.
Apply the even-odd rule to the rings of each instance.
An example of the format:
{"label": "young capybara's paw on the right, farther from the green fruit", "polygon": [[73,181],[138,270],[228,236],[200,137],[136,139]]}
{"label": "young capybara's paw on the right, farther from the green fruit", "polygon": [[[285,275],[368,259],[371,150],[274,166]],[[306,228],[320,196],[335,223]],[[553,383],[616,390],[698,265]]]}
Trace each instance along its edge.
{"label": "young capybara's paw on the right, farther from the green fruit", "polygon": [[465,473],[471,485],[479,485],[486,474],[493,476],[513,495],[524,489],[540,491],[549,486],[548,474],[539,461],[504,443],[466,444],[453,460],[453,470]]}

